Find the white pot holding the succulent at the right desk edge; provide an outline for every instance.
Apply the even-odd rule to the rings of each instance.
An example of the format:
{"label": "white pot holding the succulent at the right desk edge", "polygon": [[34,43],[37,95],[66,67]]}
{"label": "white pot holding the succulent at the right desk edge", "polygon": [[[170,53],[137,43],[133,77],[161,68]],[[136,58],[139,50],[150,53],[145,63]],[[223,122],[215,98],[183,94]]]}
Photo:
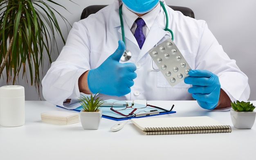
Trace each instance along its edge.
{"label": "white pot holding the succulent at the right desk edge", "polygon": [[254,125],[256,112],[237,112],[231,108],[231,121],[237,129],[251,129]]}

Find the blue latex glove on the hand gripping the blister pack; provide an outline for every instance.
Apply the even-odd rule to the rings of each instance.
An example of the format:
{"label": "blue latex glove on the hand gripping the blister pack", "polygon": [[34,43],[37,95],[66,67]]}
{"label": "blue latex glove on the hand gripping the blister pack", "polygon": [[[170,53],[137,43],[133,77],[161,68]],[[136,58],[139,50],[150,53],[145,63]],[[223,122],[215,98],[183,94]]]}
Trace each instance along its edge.
{"label": "blue latex glove on the hand gripping the blister pack", "polygon": [[192,84],[189,93],[202,108],[212,110],[217,106],[220,98],[220,82],[217,75],[207,70],[190,70],[189,77],[186,77],[184,82]]}

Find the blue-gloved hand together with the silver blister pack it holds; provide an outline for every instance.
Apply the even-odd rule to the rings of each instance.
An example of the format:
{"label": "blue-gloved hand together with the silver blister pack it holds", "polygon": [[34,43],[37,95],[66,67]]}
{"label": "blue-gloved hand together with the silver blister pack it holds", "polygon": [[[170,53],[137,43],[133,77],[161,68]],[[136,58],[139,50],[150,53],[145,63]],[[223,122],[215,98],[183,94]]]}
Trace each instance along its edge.
{"label": "blue-gloved hand together with the silver blister pack it holds", "polygon": [[220,97],[218,76],[207,70],[191,70],[172,39],[166,39],[148,53],[171,86],[184,80],[193,85],[189,93],[202,108],[212,110],[217,106]]}

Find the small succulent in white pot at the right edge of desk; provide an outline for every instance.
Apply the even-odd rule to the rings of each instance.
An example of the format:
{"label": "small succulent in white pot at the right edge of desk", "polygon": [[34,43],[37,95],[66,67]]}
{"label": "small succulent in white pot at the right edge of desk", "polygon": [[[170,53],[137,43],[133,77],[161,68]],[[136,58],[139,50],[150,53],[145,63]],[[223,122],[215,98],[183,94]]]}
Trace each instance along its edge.
{"label": "small succulent in white pot at the right edge of desk", "polygon": [[255,106],[250,102],[231,102],[231,121],[237,129],[251,129],[254,125],[256,112]]}

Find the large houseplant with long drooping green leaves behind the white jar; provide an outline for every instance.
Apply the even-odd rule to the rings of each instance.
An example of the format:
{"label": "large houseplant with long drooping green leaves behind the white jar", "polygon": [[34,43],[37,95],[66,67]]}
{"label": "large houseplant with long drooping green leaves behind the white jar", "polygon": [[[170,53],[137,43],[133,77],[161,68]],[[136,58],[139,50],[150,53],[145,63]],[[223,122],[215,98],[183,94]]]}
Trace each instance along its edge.
{"label": "large houseplant with long drooping green leaves behind the white jar", "polygon": [[5,67],[7,84],[15,84],[20,71],[22,79],[25,77],[28,83],[29,72],[31,85],[34,84],[39,93],[44,56],[49,58],[49,63],[52,62],[56,35],[65,44],[56,16],[68,24],[52,6],[65,9],[52,0],[0,0],[0,79]]}

